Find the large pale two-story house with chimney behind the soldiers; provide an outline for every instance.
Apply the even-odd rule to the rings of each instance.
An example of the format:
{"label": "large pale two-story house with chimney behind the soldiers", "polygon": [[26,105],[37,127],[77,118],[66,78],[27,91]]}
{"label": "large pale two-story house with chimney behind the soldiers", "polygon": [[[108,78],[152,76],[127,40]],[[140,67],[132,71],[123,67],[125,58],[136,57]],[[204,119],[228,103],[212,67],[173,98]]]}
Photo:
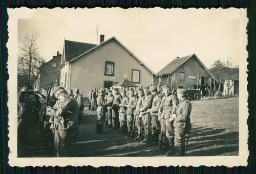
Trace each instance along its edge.
{"label": "large pale two-story house with chimney behind the soldiers", "polygon": [[60,83],[67,90],[79,88],[88,94],[94,88],[114,86],[124,76],[136,85],[153,84],[155,73],[117,38],[104,41],[100,35],[98,45],[89,44],[91,48],[79,54],[74,54],[75,45],[87,43],[73,43],[68,47],[65,42],[62,56]]}

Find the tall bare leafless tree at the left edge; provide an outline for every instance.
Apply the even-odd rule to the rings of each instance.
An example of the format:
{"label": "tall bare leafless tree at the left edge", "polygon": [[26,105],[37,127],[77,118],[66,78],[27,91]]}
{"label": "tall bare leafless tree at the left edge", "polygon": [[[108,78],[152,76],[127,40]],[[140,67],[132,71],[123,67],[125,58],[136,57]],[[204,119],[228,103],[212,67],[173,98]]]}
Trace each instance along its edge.
{"label": "tall bare leafless tree at the left edge", "polygon": [[44,63],[37,47],[37,36],[36,33],[27,34],[21,41],[22,45],[18,47],[18,85],[25,85],[31,89],[39,76],[40,66]]}

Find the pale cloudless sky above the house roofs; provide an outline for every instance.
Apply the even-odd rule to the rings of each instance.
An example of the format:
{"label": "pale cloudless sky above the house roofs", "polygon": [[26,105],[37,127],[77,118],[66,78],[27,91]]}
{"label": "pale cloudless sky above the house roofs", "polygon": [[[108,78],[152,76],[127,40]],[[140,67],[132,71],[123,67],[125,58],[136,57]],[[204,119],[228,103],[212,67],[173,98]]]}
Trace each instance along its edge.
{"label": "pale cloudless sky above the house roofs", "polygon": [[246,9],[21,9],[18,45],[38,34],[41,56],[49,61],[64,39],[98,42],[115,36],[155,72],[176,57],[196,54],[210,67],[216,60],[239,65],[247,58]]}

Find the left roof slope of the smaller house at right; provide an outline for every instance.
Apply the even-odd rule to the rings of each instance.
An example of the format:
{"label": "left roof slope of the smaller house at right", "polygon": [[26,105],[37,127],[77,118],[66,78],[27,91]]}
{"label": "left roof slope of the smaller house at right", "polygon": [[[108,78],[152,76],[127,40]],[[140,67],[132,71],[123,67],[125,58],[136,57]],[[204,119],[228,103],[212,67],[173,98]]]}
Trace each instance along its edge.
{"label": "left roof slope of the smaller house at right", "polygon": [[185,61],[187,61],[191,56],[189,55],[186,57],[176,58],[172,62],[170,62],[168,65],[166,65],[163,69],[161,69],[157,74],[164,75],[164,74],[171,74],[173,73],[178,67],[180,67]]}

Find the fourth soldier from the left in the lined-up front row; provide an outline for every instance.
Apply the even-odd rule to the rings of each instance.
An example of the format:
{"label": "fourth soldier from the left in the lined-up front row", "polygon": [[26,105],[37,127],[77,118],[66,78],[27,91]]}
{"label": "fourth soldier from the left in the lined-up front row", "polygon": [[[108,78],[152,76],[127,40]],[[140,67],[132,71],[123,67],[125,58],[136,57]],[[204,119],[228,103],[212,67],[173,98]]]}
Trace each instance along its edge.
{"label": "fourth soldier from the left in the lined-up front row", "polygon": [[121,91],[122,100],[121,104],[119,104],[119,121],[120,121],[120,127],[122,127],[122,130],[119,131],[119,133],[126,134],[127,133],[127,118],[126,118],[126,110],[127,105],[129,104],[129,98],[126,95],[126,91]]}

